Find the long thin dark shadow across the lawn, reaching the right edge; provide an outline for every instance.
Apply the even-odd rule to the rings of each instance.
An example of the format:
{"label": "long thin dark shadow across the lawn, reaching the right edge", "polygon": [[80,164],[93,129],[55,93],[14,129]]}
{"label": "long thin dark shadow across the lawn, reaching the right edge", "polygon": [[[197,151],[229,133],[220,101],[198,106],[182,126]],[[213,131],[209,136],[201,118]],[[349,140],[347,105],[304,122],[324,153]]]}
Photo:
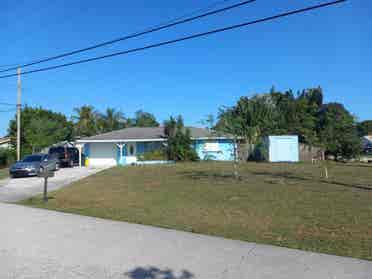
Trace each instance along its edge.
{"label": "long thin dark shadow across the lawn, reaching the right edge", "polygon": [[295,179],[295,180],[302,180],[302,181],[312,181],[312,182],[318,182],[318,183],[325,183],[325,184],[330,184],[330,185],[337,185],[337,186],[342,186],[342,187],[347,187],[347,188],[354,188],[354,189],[359,189],[359,190],[366,190],[366,191],[372,191],[372,185],[355,185],[355,184],[350,184],[350,183],[345,183],[345,182],[340,182],[340,181],[335,181],[332,179],[316,179],[316,178],[309,178],[309,177],[302,177],[298,175],[293,175],[289,172],[282,172],[282,173],[270,173],[266,171],[261,171],[261,172],[251,172],[254,175],[258,176],[270,176],[273,178],[285,178],[285,179]]}

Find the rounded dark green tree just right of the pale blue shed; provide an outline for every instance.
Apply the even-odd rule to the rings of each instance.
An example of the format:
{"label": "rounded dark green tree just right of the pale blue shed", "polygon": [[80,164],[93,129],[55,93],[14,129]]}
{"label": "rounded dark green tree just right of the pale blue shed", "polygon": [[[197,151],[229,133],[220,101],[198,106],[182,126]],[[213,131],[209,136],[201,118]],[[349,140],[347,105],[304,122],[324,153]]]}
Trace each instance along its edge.
{"label": "rounded dark green tree just right of the pale blue shed", "polygon": [[329,155],[336,160],[350,159],[360,153],[361,140],[357,134],[354,117],[342,104],[323,105],[319,114],[320,140]]}

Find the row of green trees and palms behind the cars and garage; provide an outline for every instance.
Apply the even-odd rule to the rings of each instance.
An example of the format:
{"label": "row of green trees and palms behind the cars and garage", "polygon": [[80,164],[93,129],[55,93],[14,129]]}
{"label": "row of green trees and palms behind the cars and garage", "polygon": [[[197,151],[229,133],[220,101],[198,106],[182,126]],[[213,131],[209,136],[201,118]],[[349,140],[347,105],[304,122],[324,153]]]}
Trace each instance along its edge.
{"label": "row of green trees and palms behind the cars and garage", "polygon": [[[75,108],[73,116],[68,119],[62,113],[26,106],[22,109],[21,117],[22,155],[39,152],[54,143],[134,126],[157,127],[159,123],[153,114],[142,110],[137,111],[133,118],[127,118],[113,108],[107,108],[101,113],[93,106],[82,106]],[[17,135],[15,117],[9,123],[8,134],[15,147]]]}

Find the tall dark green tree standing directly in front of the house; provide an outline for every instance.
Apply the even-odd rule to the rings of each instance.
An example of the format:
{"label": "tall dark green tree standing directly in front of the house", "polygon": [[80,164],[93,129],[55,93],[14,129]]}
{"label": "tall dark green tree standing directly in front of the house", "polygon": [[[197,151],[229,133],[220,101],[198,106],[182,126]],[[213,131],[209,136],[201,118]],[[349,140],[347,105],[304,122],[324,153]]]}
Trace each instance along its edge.
{"label": "tall dark green tree standing directly in front of the house", "polygon": [[190,129],[185,128],[182,116],[170,117],[164,123],[164,134],[167,137],[166,153],[169,160],[196,161],[198,155],[192,148]]}

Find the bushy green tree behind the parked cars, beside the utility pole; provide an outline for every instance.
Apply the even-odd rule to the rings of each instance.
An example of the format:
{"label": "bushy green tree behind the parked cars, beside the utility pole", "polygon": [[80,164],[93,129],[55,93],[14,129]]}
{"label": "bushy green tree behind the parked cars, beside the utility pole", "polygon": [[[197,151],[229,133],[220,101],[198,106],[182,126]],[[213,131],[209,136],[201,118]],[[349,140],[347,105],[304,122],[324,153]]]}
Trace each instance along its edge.
{"label": "bushy green tree behind the parked cars, beside the utility pole", "polygon": [[[22,155],[38,152],[54,143],[72,139],[73,125],[61,113],[41,107],[25,107],[21,115]],[[8,133],[15,147],[17,136],[15,117],[9,123]]]}

